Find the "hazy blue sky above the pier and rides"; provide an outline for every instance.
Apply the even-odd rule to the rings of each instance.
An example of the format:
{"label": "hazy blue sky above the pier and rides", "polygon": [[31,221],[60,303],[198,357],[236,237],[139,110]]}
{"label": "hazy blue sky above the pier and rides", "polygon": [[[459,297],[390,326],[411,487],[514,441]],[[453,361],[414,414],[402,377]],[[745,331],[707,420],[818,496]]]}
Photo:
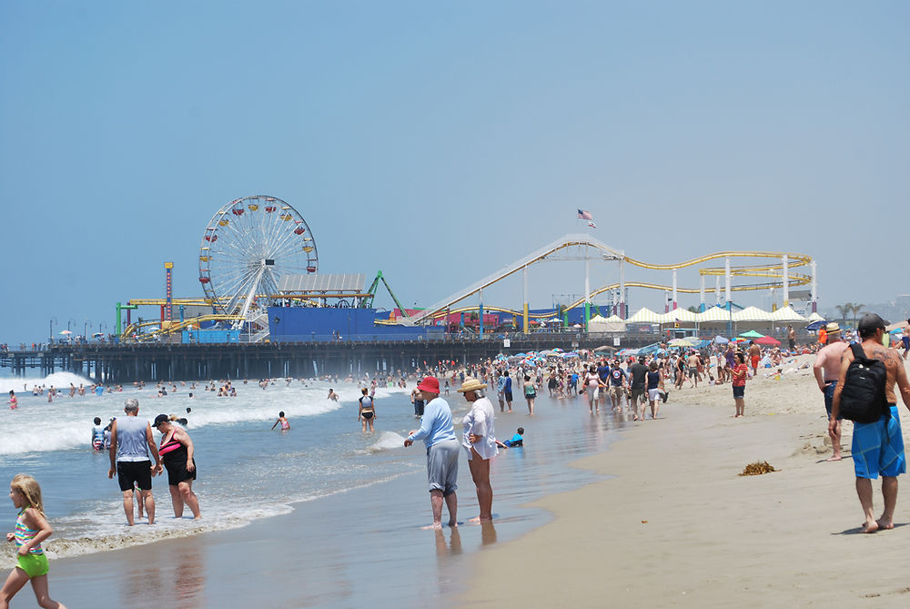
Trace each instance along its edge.
{"label": "hazy blue sky above the pier and rides", "polygon": [[[895,299],[908,25],[905,2],[0,0],[0,342],[112,331],[166,261],[201,297],[209,220],[257,194],[320,272],[381,269],[408,306],[578,232],[662,264],[798,252],[822,310]],[[583,290],[580,261],[531,269],[532,308]]]}

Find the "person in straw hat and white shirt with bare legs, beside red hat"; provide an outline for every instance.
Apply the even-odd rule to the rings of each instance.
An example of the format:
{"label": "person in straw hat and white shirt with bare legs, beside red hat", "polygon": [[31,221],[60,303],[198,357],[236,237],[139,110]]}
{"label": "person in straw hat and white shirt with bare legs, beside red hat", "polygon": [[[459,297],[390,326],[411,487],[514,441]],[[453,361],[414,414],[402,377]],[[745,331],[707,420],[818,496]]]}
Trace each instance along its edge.
{"label": "person in straw hat and white shirt with bare legs, beside red hat", "polygon": [[[531,378],[526,376],[526,380]],[[527,381],[525,381],[527,383]],[[470,403],[470,412],[461,421],[464,434],[461,446],[468,454],[470,477],[477,489],[477,504],[480,516],[471,518],[470,522],[484,522],[493,519],[493,488],[490,486],[490,459],[499,454],[496,448],[496,430],[494,425],[493,405],[483,396],[486,384],[467,377],[461,383],[459,393]],[[533,412],[531,412],[533,414]]]}

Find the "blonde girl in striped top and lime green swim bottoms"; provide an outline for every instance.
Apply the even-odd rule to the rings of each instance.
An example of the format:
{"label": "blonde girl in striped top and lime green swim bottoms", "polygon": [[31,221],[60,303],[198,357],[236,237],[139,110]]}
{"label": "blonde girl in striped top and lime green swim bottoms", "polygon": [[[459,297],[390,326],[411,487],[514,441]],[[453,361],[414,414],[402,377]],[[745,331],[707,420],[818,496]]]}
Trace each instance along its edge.
{"label": "blonde girl in striped top and lime green swim bottoms", "polygon": [[35,478],[18,473],[9,483],[9,498],[19,510],[15,520],[15,533],[6,533],[6,541],[15,541],[16,565],[6,578],[0,590],[0,603],[9,606],[23,586],[32,580],[35,599],[45,609],[66,609],[47,594],[47,556],[41,548],[41,542],[54,533],[54,529],[45,519],[45,510],[41,502],[41,487]]}

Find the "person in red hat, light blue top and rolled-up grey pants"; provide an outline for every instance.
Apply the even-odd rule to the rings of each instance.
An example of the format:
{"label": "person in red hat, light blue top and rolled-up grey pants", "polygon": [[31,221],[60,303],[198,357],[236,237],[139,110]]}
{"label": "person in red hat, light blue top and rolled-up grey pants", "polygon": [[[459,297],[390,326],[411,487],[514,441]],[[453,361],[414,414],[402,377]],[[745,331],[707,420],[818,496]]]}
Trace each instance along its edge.
{"label": "person in red hat, light blue top and rolled-up grey pants", "polygon": [[430,506],[433,529],[442,528],[442,503],[449,509],[449,526],[458,526],[458,453],[459,443],[452,427],[449,402],[440,398],[440,381],[425,377],[417,386],[427,406],[420,420],[420,430],[411,431],[405,447],[422,440],[427,447],[427,479],[430,484]]}

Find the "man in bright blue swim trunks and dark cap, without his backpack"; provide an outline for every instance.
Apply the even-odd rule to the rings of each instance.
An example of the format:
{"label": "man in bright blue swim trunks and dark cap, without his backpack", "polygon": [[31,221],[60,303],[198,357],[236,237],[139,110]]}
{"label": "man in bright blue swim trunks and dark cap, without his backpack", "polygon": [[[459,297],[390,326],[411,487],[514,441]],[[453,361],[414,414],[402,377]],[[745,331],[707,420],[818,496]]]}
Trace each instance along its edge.
{"label": "man in bright blue swim trunks and dark cap, without his backpack", "polygon": [[[904,361],[896,350],[886,349],[882,340],[885,337],[887,322],[867,313],[859,321],[857,330],[862,340],[861,347],[865,357],[880,360],[888,370],[885,381],[885,399],[889,405],[888,412],[874,423],[854,422],[853,458],[856,475],[856,494],[863,506],[865,523],[863,533],[875,533],[879,529],[895,528],[895,507],[897,505],[897,476],[906,472],[904,456],[904,437],[901,434],[900,413],[897,411],[895,382],[901,392],[905,406],[910,409],[910,382],[907,381]],[[834,389],[834,404],[831,408],[831,419],[828,421],[828,434],[834,438],[837,415],[841,408],[841,391],[844,389],[847,368],[854,360],[852,350],[845,350],[841,361],[841,373]],[[881,518],[875,519],[872,504],[872,481],[882,476],[882,494],[885,497],[885,510]]]}

